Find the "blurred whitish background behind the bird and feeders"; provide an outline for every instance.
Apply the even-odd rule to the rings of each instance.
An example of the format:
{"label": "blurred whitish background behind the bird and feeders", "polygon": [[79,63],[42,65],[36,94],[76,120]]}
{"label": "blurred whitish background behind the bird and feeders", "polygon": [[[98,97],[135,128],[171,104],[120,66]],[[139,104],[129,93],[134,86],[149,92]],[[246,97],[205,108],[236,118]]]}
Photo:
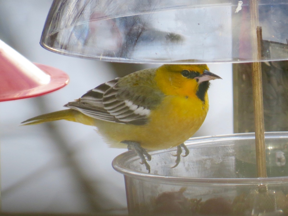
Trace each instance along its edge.
{"label": "blurred whitish background behind the bird and feeders", "polygon": [[[19,124],[62,109],[68,101],[117,76],[158,65],[85,60],[43,49],[39,40],[51,3],[0,0],[0,39],[32,62],[57,67],[70,77],[69,85],[56,92],[0,103],[2,211],[121,211],[126,208],[124,179],[111,162],[126,149],[108,148],[92,127],[74,122]],[[194,137],[233,132],[231,64],[209,67],[223,80],[211,82],[210,110]]]}

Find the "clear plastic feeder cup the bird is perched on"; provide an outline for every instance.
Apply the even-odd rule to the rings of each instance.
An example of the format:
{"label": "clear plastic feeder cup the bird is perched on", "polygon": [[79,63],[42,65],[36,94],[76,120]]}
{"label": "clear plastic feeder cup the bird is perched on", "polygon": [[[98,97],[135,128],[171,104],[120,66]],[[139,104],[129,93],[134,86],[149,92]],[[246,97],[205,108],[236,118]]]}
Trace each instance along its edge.
{"label": "clear plastic feeder cup the bird is perched on", "polygon": [[176,168],[175,148],[151,151],[150,174],[133,151],[117,156],[129,213],[287,215],[288,132],[265,135],[268,178],[256,177],[254,133],[189,139]]}

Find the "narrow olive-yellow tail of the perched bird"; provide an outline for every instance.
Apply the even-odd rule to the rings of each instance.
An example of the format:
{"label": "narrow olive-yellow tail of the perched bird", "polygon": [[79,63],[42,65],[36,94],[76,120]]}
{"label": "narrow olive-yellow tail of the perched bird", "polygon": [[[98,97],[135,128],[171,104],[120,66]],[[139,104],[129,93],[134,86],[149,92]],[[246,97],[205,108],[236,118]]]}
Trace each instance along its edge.
{"label": "narrow olive-yellow tail of the perched bird", "polygon": [[52,113],[47,113],[43,115],[38,115],[33,118],[29,118],[24,122],[21,122],[22,125],[30,125],[30,124],[40,124],[43,122],[51,122],[56,120],[68,120],[68,121],[75,121],[75,114],[77,110],[74,109],[64,109]]}

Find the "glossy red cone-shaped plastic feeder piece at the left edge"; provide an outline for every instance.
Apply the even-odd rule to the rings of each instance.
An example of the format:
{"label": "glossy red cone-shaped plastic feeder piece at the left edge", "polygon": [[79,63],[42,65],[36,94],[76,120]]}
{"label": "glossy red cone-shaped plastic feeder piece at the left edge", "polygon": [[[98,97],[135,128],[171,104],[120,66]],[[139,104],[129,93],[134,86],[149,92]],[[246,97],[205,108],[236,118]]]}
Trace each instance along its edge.
{"label": "glossy red cone-shaped plastic feeder piece at the left edge", "polygon": [[0,101],[40,96],[56,91],[68,82],[65,72],[33,64],[0,40]]}

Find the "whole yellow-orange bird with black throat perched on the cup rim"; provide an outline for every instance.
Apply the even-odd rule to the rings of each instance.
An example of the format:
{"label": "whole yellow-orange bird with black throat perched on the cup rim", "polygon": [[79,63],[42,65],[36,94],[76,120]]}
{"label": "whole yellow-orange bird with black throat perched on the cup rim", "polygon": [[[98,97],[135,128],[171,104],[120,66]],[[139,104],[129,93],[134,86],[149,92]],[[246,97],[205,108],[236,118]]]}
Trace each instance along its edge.
{"label": "whole yellow-orange bird with black throat perched on the cup rim", "polygon": [[[176,167],[189,154],[184,141],[202,125],[209,108],[209,80],[221,79],[207,65],[162,65],[116,78],[60,110],[22,124],[68,120],[96,126],[111,147],[127,147],[150,172],[146,150],[177,146]],[[147,157],[147,160],[145,159]]]}

